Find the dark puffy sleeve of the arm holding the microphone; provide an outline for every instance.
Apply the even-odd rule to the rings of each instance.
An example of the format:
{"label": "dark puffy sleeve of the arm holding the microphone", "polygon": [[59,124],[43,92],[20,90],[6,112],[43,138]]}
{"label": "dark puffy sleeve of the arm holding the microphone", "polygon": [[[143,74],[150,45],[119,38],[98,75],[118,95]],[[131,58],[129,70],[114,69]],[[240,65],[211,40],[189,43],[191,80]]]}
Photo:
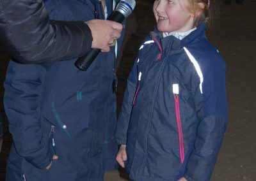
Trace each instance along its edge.
{"label": "dark puffy sleeve of the arm holding the microphone", "polygon": [[86,54],[92,33],[84,22],[49,20],[42,0],[0,0],[0,40],[17,61],[51,62]]}

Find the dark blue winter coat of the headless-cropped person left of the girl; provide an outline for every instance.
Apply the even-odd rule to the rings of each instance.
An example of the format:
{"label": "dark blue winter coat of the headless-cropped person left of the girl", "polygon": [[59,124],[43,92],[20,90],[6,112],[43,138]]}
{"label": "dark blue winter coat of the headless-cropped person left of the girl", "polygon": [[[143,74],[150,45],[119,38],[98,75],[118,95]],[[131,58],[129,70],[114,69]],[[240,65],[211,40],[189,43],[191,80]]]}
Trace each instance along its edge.
{"label": "dark blue winter coat of the headless-cropped person left of the girl", "polygon": [[[110,14],[112,2],[106,4]],[[54,20],[104,18],[98,0],[45,0],[45,6]],[[10,62],[4,106],[14,145],[6,180],[103,180],[104,171],[115,170],[115,56],[114,47],[100,52],[87,71],[74,66],[76,59]]]}

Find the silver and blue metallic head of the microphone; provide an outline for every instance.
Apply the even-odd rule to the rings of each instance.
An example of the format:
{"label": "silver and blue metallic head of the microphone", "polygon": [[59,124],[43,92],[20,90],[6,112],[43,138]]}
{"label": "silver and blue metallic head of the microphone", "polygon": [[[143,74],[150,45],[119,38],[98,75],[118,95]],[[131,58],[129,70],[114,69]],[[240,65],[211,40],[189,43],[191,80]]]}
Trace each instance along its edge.
{"label": "silver and blue metallic head of the microphone", "polygon": [[136,2],[134,0],[121,0],[116,5],[115,11],[119,11],[127,18],[131,15],[132,11],[134,10]]}

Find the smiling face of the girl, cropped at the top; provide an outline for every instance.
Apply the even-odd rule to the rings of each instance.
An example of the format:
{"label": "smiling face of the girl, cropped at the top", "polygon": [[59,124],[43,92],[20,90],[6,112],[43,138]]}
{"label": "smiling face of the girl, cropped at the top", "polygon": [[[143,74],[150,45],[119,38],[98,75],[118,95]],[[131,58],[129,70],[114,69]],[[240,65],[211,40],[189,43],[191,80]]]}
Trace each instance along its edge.
{"label": "smiling face of the girl, cropped at the top", "polygon": [[155,0],[153,11],[157,29],[168,33],[193,29],[193,14],[186,10],[187,6],[188,0]]}

